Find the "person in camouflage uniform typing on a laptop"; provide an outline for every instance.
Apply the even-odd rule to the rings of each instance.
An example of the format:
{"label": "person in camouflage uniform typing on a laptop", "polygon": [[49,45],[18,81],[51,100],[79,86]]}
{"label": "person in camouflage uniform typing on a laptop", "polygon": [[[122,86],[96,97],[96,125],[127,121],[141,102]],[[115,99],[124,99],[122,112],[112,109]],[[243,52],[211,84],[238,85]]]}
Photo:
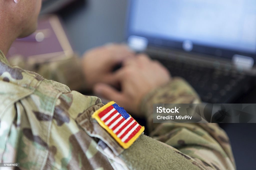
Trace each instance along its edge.
{"label": "person in camouflage uniform typing on a laptop", "polygon": [[[50,77],[44,68],[51,68],[58,79],[57,70],[69,67],[72,74],[64,74],[67,79],[62,81],[78,80],[145,117],[150,135],[137,133],[129,146],[93,116],[106,110],[99,98],[10,66],[4,54],[17,37],[35,30],[40,4],[0,0],[1,162],[20,163],[17,169],[235,169],[229,139],[217,124],[153,124],[153,103],[197,103],[199,98],[184,80],[171,79],[161,64],[145,55],[135,58],[124,46],[112,45],[86,53],[81,66],[73,58],[38,70]],[[123,68],[112,73],[120,61]],[[116,82],[121,92],[109,86]]]}

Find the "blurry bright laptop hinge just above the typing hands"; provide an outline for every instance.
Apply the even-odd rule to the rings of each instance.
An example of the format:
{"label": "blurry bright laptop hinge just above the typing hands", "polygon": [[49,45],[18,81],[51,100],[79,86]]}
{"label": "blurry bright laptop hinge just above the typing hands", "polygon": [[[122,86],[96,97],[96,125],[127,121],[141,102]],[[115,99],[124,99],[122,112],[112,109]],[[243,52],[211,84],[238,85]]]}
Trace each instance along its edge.
{"label": "blurry bright laptop hinge just above the typing hands", "polygon": [[129,36],[127,42],[129,47],[137,52],[145,51],[148,45],[147,38],[135,35]]}

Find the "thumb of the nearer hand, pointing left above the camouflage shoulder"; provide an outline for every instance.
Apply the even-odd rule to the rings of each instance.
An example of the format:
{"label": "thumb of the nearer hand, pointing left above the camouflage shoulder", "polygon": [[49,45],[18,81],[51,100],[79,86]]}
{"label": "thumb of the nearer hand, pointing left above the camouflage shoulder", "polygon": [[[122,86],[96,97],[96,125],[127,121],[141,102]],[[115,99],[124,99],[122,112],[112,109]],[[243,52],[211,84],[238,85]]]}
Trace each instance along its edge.
{"label": "thumb of the nearer hand, pointing left above the camouflage shoulder", "polygon": [[93,91],[108,100],[115,100],[116,102],[122,100],[121,93],[108,84],[98,83],[94,86]]}

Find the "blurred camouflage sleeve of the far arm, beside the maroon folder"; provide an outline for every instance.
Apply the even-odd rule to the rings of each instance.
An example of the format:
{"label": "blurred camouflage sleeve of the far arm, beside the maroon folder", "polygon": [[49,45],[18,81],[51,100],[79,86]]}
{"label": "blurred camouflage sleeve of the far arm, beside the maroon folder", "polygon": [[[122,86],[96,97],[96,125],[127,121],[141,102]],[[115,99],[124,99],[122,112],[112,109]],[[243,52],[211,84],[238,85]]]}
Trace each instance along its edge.
{"label": "blurred camouflage sleeve of the far arm, beside the maroon folder", "polygon": [[22,56],[8,59],[11,65],[19,66],[24,70],[33,71],[48,80],[67,85],[71,90],[87,90],[86,81],[82,73],[80,58],[73,54],[70,58],[35,64],[26,61]]}

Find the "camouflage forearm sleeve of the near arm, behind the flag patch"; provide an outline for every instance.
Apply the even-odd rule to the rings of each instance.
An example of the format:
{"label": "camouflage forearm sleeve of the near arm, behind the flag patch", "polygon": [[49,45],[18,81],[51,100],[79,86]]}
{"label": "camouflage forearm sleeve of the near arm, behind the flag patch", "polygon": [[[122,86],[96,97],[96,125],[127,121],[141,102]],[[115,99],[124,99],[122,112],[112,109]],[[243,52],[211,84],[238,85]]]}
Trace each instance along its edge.
{"label": "camouflage forearm sleeve of the near arm, behind the flag patch", "polygon": [[213,123],[153,123],[153,103],[199,103],[193,88],[181,78],[147,94],[141,111],[147,115],[150,136],[190,156],[206,169],[235,169],[225,131]]}

